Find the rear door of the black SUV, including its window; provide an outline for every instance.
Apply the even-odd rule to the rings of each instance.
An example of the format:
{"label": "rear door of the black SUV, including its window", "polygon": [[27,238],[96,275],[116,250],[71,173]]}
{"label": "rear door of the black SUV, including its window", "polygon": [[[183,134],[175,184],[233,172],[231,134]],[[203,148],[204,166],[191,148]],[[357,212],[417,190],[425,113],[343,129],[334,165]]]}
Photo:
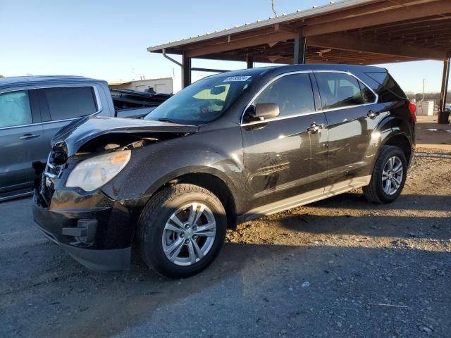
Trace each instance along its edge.
{"label": "rear door of the black SUV, including its window", "polygon": [[377,96],[350,73],[315,72],[328,123],[328,182],[371,175],[368,156]]}

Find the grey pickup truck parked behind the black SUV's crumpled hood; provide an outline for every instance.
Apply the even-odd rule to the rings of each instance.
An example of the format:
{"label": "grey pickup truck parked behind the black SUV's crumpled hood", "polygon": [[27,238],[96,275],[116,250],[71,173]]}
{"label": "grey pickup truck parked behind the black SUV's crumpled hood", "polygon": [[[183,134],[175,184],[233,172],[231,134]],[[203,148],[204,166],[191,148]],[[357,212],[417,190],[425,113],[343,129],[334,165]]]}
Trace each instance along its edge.
{"label": "grey pickup truck parked behind the black SUV's crumpled hood", "polygon": [[113,89],[76,76],[0,79],[0,201],[31,193],[33,163],[46,163],[50,141],[87,115],[140,118],[169,95]]}

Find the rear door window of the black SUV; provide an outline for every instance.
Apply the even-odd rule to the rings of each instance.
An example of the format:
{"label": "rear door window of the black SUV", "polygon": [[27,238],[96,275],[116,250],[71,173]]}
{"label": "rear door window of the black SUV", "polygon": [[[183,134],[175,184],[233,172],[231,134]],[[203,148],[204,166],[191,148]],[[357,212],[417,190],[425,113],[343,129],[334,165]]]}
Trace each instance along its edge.
{"label": "rear door window of the black SUV", "polygon": [[357,106],[375,101],[376,96],[355,77],[342,73],[316,73],[323,109]]}

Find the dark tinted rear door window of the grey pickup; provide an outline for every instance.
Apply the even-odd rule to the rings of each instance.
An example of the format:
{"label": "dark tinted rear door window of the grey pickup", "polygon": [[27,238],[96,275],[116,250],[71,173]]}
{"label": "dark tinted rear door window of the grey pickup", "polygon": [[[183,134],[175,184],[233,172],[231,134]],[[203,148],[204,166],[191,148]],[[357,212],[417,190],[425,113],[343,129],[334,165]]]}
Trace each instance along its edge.
{"label": "dark tinted rear door window of the grey pickup", "polygon": [[92,87],[61,87],[44,89],[51,120],[79,118],[97,111]]}

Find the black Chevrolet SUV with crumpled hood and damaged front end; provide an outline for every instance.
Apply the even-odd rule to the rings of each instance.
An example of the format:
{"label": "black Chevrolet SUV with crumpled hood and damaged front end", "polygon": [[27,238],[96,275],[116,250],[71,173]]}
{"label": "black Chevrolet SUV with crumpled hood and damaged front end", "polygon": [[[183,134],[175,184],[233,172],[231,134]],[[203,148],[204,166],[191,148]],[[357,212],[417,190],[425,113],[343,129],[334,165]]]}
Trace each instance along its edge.
{"label": "black Chevrolet SUV with crumpled hood and damaged front end", "polygon": [[416,107],[384,68],[288,65],[191,84],[143,120],[86,117],[36,168],[39,229],[95,270],[187,277],[228,228],[362,187],[402,192]]}

